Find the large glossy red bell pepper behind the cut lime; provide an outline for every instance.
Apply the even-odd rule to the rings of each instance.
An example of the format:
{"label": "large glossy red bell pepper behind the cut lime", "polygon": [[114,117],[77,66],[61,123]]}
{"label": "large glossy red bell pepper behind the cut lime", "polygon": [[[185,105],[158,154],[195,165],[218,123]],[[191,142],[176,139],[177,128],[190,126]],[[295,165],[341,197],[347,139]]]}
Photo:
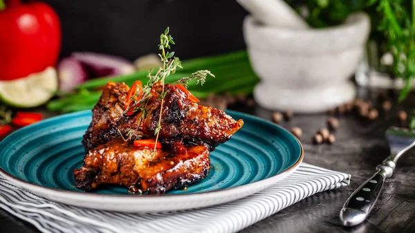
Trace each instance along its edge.
{"label": "large glossy red bell pepper behind the cut lime", "polygon": [[46,3],[6,1],[0,10],[0,80],[15,80],[55,66],[61,27]]}

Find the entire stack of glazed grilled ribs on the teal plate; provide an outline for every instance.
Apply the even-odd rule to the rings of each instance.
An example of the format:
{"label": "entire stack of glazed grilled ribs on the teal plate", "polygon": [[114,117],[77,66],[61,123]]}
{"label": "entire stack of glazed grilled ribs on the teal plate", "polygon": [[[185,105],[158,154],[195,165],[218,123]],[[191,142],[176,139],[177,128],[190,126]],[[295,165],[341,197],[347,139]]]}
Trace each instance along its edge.
{"label": "entire stack of glazed grilled ribs on the teal plate", "polygon": [[90,191],[114,184],[163,194],[208,176],[210,151],[229,140],[243,122],[219,109],[190,101],[186,93],[171,84],[164,86],[159,133],[163,149],[154,152],[124,140],[131,131],[140,132],[142,138],[155,137],[161,105],[157,93],[162,88],[160,83],[151,88],[145,111],[124,115],[129,87],[113,82],[105,86],[82,140],[89,152],[84,166],[74,171],[77,188]]}

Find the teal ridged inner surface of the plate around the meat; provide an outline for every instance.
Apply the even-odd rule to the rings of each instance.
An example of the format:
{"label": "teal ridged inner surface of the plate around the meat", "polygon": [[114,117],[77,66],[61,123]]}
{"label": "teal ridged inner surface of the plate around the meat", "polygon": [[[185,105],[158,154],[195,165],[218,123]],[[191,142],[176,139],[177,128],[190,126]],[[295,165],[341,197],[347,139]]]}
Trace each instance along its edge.
{"label": "teal ridged inner surface of the plate around the meat", "polygon": [[[208,178],[169,194],[211,192],[254,183],[285,171],[299,160],[302,147],[291,133],[250,115],[228,113],[235,119],[242,118],[244,125],[210,154]],[[90,122],[91,111],[82,111],[12,133],[0,142],[1,169],[42,187],[82,192],[75,187],[73,170],[82,166],[81,140]],[[95,193],[128,194],[123,187],[107,187]]]}

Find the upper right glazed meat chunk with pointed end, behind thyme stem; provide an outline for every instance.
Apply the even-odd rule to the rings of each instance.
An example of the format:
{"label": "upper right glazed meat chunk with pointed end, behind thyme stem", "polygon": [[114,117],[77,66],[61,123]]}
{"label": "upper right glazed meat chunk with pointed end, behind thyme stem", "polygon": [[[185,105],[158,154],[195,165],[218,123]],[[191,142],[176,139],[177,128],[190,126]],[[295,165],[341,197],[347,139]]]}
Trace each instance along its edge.
{"label": "upper right glazed meat chunk with pointed end, behind thyme stem", "polygon": [[[154,84],[151,93],[161,93],[162,85]],[[163,148],[183,152],[187,145],[205,144],[213,150],[217,145],[230,140],[233,133],[243,125],[219,109],[201,106],[189,100],[187,94],[171,84],[165,84],[163,112],[161,116],[160,142]],[[147,106],[147,117],[142,119],[142,112],[121,119],[119,129],[135,127],[149,136],[154,131],[160,118],[160,99],[151,97]]]}

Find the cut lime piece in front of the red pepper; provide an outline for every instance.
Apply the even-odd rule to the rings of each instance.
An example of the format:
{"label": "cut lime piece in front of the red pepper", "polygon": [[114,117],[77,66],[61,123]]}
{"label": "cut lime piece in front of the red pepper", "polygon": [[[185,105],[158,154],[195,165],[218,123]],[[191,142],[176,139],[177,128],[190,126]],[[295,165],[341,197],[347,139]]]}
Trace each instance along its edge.
{"label": "cut lime piece in front of the red pepper", "polygon": [[18,80],[0,81],[0,100],[20,108],[39,106],[55,95],[57,86],[56,70],[48,67]]}

